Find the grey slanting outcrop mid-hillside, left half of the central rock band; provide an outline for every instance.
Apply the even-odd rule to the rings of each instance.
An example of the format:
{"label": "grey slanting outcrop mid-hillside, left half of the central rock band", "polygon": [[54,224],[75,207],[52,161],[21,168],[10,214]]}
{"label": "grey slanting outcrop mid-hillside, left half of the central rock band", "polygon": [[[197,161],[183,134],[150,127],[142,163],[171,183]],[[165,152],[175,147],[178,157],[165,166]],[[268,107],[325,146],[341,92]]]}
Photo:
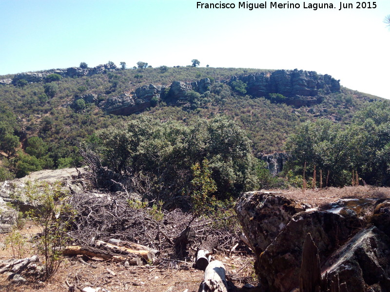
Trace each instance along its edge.
{"label": "grey slanting outcrop mid-hillside, left half of the central rock band", "polygon": [[164,86],[142,86],[132,92],[125,92],[119,96],[109,97],[99,104],[109,114],[129,115],[152,106],[152,99],[159,101],[165,92]]}

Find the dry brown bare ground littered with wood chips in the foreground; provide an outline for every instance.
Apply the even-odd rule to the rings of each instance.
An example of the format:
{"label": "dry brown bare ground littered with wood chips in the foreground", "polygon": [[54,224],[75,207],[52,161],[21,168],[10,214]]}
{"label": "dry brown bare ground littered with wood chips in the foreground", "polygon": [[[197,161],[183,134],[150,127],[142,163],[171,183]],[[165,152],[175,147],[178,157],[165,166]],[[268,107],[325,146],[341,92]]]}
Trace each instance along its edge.
{"label": "dry brown bare ground littered with wood chips in the foreground", "polygon": [[[20,234],[31,238],[39,230],[32,222],[26,222]],[[4,247],[6,237],[6,234],[0,235],[0,261],[16,257],[10,247]],[[34,253],[34,245],[29,242],[24,256],[32,256]],[[224,263],[227,278],[237,287],[246,283],[257,285],[253,255],[238,251],[214,255],[213,258]],[[0,292],[72,292],[82,291],[85,287],[100,288],[101,292],[183,292],[186,289],[188,292],[197,292],[204,274],[203,271],[193,268],[193,262],[168,259],[157,259],[153,265],[130,267],[112,261],[87,262],[91,266],[83,264],[78,257],[65,258],[59,271],[47,282],[39,281],[34,276],[23,275],[25,283],[14,283],[7,275],[0,274]]]}

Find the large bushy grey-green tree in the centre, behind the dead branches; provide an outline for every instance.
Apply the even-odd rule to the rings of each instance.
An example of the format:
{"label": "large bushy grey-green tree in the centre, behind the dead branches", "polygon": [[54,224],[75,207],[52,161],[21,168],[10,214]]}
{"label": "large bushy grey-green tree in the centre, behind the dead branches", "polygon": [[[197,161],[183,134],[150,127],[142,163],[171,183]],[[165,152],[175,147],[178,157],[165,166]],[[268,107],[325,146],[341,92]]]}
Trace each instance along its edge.
{"label": "large bushy grey-green tree in the centre, behind the dead branches", "polygon": [[[151,200],[175,195],[218,199],[257,187],[250,141],[222,117],[160,122],[149,116],[101,129],[82,145],[93,169],[126,176],[133,191]],[[210,190],[209,186],[213,186]]]}

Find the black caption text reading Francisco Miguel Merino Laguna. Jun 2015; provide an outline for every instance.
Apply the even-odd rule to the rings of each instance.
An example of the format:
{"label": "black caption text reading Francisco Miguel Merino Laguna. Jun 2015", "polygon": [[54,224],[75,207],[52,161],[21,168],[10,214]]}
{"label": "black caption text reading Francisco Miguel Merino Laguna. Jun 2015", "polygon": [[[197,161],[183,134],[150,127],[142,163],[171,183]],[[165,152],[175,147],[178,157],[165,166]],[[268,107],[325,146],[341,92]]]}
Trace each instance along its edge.
{"label": "black caption text reading Francisco Miguel Merino Laguna. Jun 2015", "polygon": [[[298,9],[301,8],[301,5],[299,3],[278,3],[270,1],[269,5],[267,5],[267,1],[262,3],[251,3],[248,1],[242,1],[238,2],[238,8],[244,8],[244,9],[267,9],[267,8],[280,8],[280,9]],[[357,7],[356,8],[376,8],[376,2],[356,2]],[[368,6],[367,6],[368,5]],[[203,2],[196,2],[196,8],[200,9],[234,9],[236,5],[234,3],[222,3],[222,1],[216,2],[216,3],[203,3]],[[312,10],[317,9],[329,9],[329,8],[336,8],[333,3],[306,3],[303,2],[302,8],[308,8]],[[341,10],[343,8],[353,8],[352,3],[343,3],[340,2],[340,8],[338,10]]]}

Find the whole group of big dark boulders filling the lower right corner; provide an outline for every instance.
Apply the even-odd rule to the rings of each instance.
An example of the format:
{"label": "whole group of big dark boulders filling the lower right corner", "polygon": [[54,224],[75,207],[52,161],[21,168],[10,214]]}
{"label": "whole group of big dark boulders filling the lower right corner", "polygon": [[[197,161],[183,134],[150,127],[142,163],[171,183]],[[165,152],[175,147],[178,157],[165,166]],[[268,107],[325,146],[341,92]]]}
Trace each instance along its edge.
{"label": "whole group of big dark boulders filling the lower right corner", "polygon": [[[370,218],[359,217],[374,208]],[[390,291],[390,201],[340,200],[310,209],[280,193],[244,193],[237,217],[256,254],[255,269],[264,291],[298,287],[307,234],[318,248],[322,277],[338,275],[349,291]],[[367,225],[371,221],[378,226]],[[371,289],[371,290],[370,290]]]}

